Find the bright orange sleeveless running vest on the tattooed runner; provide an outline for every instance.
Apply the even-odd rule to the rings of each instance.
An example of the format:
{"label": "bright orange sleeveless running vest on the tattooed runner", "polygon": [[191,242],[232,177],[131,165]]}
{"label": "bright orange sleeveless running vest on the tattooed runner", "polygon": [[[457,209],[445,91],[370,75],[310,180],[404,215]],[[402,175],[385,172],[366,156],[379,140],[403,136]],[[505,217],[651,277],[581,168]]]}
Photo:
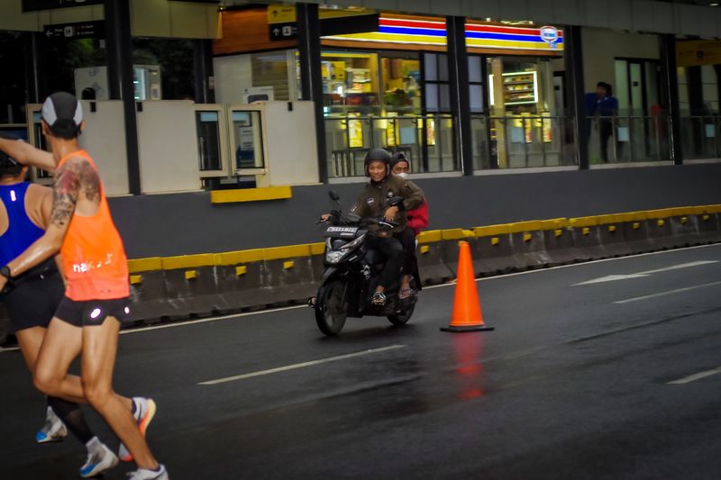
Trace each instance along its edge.
{"label": "bright orange sleeveless running vest on the tattooed runner", "polygon": [[[96,164],[85,150],[61,158],[58,168],[73,157],[86,158],[97,172]],[[60,258],[67,279],[65,295],[70,300],[114,300],[130,295],[128,260],[123,240],[110,216],[102,182],[96,214],[88,217],[73,214]]]}

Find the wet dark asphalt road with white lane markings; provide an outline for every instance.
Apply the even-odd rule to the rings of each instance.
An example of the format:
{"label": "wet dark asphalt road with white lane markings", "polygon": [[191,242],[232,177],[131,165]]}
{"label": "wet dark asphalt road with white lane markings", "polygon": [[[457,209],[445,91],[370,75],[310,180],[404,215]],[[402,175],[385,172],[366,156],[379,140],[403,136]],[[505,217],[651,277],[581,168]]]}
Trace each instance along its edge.
{"label": "wet dark asphalt road with white lane markings", "polygon": [[[495,331],[439,331],[442,286],[404,327],[349,319],[334,339],[307,308],[126,331],[115,384],[158,402],[174,480],[721,478],[721,246],[478,285]],[[77,478],[76,440],[34,443],[19,352],[0,385],[0,478]]]}

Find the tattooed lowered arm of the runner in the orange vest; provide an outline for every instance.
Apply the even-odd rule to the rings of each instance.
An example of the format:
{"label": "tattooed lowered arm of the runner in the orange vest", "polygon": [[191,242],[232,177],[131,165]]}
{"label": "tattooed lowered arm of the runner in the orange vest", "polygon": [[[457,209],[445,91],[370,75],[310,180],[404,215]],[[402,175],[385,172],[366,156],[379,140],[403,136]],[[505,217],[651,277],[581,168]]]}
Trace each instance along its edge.
{"label": "tattooed lowered arm of the runner in the orange vest", "polygon": [[[70,158],[58,169],[52,186],[52,211],[48,229],[18,258],[7,264],[11,276],[19,276],[59,252],[78,204],[78,195],[84,178],[82,172],[85,168],[87,168],[85,159]],[[4,286],[5,276],[0,276],[0,288]]]}

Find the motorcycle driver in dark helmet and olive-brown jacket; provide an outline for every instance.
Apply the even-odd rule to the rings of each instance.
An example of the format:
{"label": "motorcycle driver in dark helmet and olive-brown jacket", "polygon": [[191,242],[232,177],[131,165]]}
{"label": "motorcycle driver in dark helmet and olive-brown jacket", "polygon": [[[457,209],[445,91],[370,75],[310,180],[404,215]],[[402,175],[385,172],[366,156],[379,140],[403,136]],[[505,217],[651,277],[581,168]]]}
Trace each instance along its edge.
{"label": "motorcycle driver in dark helmet and olive-brown jacket", "polygon": [[[406,229],[406,211],[418,208],[423,204],[423,191],[401,177],[390,174],[390,154],[385,149],[371,149],[365,158],[366,177],[370,182],[358,196],[351,212],[361,218],[397,223],[396,227],[370,224],[368,227],[368,245],[377,249],[386,258],[386,266],[380,274],[379,284],[373,294],[373,304],[386,303],[386,290],[400,276],[404,253],[401,242],[394,235]],[[403,202],[389,206],[388,201],[394,196],[403,198]]]}

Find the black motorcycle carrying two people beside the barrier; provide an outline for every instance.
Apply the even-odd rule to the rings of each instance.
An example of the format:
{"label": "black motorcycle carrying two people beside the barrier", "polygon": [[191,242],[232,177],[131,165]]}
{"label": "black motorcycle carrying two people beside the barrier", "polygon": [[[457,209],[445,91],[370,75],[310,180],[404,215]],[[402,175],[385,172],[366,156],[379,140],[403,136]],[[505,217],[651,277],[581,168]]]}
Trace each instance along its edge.
{"label": "black motorcycle carrying two people beside the barrier", "polygon": [[[329,195],[340,205],[340,198],[335,192]],[[394,206],[401,202],[403,198],[394,197],[388,204]],[[328,336],[337,335],[347,317],[387,317],[394,325],[408,322],[417,302],[413,283],[412,294],[407,298],[399,299],[398,285],[393,285],[386,290],[386,304],[379,306],[372,303],[385,259],[367,245],[367,227],[374,224],[391,229],[397,223],[383,218],[361,219],[356,214],[344,214],[341,210],[333,210],[327,220],[320,222],[327,222],[330,226],[324,233],[325,271],[322,283],[315,299],[311,299],[318,329]]]}

